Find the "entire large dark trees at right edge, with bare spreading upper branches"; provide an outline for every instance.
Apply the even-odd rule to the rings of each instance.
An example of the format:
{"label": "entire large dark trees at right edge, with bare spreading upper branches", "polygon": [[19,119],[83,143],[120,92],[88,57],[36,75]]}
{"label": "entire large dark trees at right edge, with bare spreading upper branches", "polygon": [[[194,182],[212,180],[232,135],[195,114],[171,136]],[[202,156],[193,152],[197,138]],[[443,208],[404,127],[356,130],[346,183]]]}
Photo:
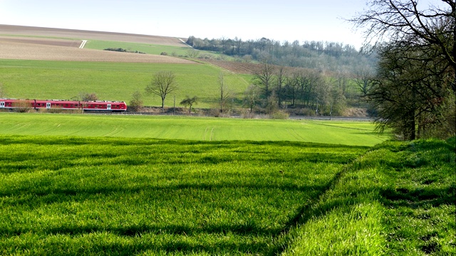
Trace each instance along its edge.
{"label": "entire large dark trees at right edge, with bare spreading upper branches", "polygon": [[[404,139],[415,139],[417,127],[427,125],[423,120],[447,122],[442,106],[443,113],[456,116],[456,1],[422,3],[369,0],[371,9],[351,19],[366,29],[366,43],[375,43],[380,55],[379,74],[368,92],[378,127],[398,128]],[[450,105],[442,104],[450,97],[445,92],[452,92]],[[454,122],[450,127],[455,130]]]}

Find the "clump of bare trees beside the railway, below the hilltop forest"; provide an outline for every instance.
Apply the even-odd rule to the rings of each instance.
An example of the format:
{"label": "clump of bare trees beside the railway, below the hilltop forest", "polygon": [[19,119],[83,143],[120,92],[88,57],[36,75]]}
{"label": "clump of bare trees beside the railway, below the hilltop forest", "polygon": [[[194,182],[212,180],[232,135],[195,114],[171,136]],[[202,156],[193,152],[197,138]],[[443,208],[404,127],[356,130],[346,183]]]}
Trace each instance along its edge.
{"label": "clump of bare trees beside the railway, below the hilltop forest", "polygon": [[244,92],[250,112],[341,116],[359,104],[359,90],[348,75],[315,69],[289,68],[264,62]]}

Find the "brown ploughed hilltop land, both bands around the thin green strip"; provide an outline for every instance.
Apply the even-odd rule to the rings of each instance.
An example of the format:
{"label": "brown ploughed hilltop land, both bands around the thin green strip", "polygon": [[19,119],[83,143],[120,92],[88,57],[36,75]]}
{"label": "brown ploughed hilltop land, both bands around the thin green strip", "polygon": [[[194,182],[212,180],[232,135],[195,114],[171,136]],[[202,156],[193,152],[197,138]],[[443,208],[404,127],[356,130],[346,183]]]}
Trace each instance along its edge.
{"label": "brown ploughed hilltop land, both bands around the thin green strip", "polygon": [[[23,36],[46,36],[58,38]],[[196,64],[190,60],[163,55],[79,49],[82,42],[81,40],[60,38],[128,41],[167,46],[185,46],[185,44],[178,38],[163,36],[142,36],[125,33],[73,31],[57,28],[0,25],[0,59]]]}

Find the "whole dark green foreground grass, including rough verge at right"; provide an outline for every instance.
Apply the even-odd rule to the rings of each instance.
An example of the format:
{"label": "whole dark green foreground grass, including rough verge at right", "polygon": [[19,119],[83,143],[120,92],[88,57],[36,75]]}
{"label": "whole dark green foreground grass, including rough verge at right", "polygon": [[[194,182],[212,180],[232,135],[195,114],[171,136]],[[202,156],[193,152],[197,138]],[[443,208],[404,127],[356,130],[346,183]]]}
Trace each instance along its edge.
{"label": "whole dark green foreground grass, including rough verge at right", "polygon": [[0,135],[0,151],[1,255],[455,253],[446,142]]}

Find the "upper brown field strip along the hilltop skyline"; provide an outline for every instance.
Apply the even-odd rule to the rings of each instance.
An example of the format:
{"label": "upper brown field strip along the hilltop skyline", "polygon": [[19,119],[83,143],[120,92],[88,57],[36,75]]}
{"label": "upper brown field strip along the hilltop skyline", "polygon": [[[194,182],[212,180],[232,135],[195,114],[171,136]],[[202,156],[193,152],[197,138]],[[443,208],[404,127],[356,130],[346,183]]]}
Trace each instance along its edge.
{"label": "upper brown field strip along the hilltop skyline", "polygon": [[[46,36],[52,38],[71,38],[73,40],[103,40],[133,43],[150,43],[162,46],[186,46],[179,38],[167,36],[147,36],[131,33],[112,33],[103,31],[82,31],[63,28],[40,28],[33,26],[1,25],[0,35],[3,36]],[[187,38],[183,39],[184,41]]]}

